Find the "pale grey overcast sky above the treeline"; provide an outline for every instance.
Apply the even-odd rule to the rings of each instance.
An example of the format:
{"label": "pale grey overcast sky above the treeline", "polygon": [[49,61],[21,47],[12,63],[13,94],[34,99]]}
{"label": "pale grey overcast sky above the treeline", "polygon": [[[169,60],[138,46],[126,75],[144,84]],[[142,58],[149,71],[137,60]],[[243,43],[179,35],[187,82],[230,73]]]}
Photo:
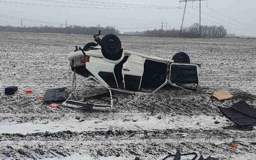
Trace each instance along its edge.
{"label": "pale grey overcast sky above the treeline", "polygon": [[[47,5],[63,5],[63,6],[82,6],[82,7],[99,7],[99,8],[120,8],[117,4],[109,3],[93,3],[84,0],[56,0],[69,3],[84,3],[82,4],[69,4],[69,3],[55,3],[55,0],[1,0],[5,2],[21,2],[21,3],[34,3],[34,4],[47,4]],[[53,25],[60,26],[61,23],[65,24],[67,20],[68,25],[84,25],[84,26],[116,26],[124,31],[143,31],[147,29],[160,28],[160,22],[168,22],[167,28],[177,28],[181,26],[183,8],[181,9],[149,9],[144,7],[143,10],[138,7],[125,5],[126,9],[111,10],[111,9],[89,9],[89,8],[70,8],[70,7],[53,7],[53,6],[33,6],[21,4],[7,4],[0,1],[0,14],[9,15],[13,17],[23,18],[23,25]],[[55,1],[55,2],[46,2]],[[178,7],[179,0],[96,0],[100,2],[111,3],[126,3],[135,5],[155,5],[155,6],[171,6]],[[94,4],[94,5],[92,5]],[[96,5],[95,5],[96,4]],[[201,1],[202,4],[202,25],[224,25],[226,29],[230,29],[230,33],[237,35],[254,35],[256,31],[255,14],[255,0],[208,0]],[[184,7],[185,3],[180,6]],[[208,7],[206,7],[206,5]],[[199,22],[199,2],[187,2],[187,11],[185,14],[184,26],[189,26],[193,23]],[[129,7],[129,8],[127,8]],[[135,8],[137,7],[137,8]],[[123,7],[122,7],[123,8]],[[167,8],[167,7],[165,7]],[[170,8],[170,7],[169,7]],[[128,10],[127,10],[128,9]],[[223,14],[218,14],[217,12]],[[206,15],[207,14],[207,15]],[[211,17],[211,16],[212,17]],[[225,17],[225,16],[226,17]],[[215,18],[214,18],[215,17]],[[229,18],[234,20],[231,20]],[[34,22],[26,20],[46,21]],[[218,19],[216,19],[218,18]],[[221,21],[223,20],[223,21]],[[212,21],[212,22],[210,22]],[[226,22],[224,22],[226,21]],[[239,23],[240,22],[240,23]],[[242,24],[243,23],[243,24]],[[244,25],[246,24],[246,25]],[[7,19],[0,17],[0,25],[19,26],[19,19]],[[165,26],[165,25],[164,25]],[[147,28],[148,27],[148,28]],[[128,29],[122,29],[128,28]],[[164,27],[165,28],[165,27]],[[228,31],[229,32],[229,31]]]}

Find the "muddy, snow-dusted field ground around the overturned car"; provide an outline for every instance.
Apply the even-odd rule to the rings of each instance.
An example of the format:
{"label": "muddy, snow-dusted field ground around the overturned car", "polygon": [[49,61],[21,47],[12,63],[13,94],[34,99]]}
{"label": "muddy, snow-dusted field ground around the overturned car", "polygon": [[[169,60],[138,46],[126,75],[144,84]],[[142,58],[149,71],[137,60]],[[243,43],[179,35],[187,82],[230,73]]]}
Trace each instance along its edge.
{"label": "muddy, snow-dusted field ground around the overturned car", "polygon": [[[120,39],[124,49],[151,56],[188,53],[191,63],[202,64],[198,92],[166,85],[152,95],[114,92],[118,101],[111,111],[50,108],[39,97],[46,89],[71,89],[69,50],[93,37],[0,33],[0,159],[162,159],[177,149],[205,158],[256,159],[255,127],[237,128],[218,109],[239,100],[256,106],[256,40]],[[16,95],[4,94],[10,85],[18,86]],[[234,98],[211,102],[217,90]],[[94,81],[78,91],[88,97],[103,92]],[[237,149],[214,146],[232,140],[239,141]]]}

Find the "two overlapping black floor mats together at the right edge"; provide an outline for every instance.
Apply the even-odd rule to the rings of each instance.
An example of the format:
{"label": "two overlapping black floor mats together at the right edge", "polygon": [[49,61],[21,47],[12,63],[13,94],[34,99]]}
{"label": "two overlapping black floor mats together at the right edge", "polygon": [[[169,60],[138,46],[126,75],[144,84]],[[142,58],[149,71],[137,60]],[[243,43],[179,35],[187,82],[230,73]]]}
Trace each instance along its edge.
{"label": "two overlapping black floor mats together at the right edge", "polygon": [[250,107],[245,101],[239,101],[232,107],[219,107],[223,115],[238,126],[255,126],[256,109]]}

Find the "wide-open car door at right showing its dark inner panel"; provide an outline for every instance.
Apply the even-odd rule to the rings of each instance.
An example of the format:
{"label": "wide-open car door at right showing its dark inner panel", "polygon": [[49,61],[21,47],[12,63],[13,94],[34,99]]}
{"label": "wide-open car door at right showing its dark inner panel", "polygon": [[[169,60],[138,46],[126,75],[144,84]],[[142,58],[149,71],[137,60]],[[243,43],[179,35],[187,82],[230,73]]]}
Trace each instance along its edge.
{"label": "wide-open car door at right showing its dark inner panel", "polygon": [[191,63],[171,63],[169,82],[172,86],[176,87],[180,87],[176,84],[188,83],[194,83],[198,87],[199,66]]}

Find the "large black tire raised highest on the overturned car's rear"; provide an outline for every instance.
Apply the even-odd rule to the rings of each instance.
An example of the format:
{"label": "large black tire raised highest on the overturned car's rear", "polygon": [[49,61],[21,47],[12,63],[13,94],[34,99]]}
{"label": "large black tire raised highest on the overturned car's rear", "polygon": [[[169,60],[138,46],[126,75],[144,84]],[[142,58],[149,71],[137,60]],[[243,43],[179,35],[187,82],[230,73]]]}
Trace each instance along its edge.
{"label": "large black tire raised highest on the overturned car's rear", "polygon": [[105,35],[100,42],[101,51],[106,59],[116,61],[122,57],[121,41],[114,34]]}

